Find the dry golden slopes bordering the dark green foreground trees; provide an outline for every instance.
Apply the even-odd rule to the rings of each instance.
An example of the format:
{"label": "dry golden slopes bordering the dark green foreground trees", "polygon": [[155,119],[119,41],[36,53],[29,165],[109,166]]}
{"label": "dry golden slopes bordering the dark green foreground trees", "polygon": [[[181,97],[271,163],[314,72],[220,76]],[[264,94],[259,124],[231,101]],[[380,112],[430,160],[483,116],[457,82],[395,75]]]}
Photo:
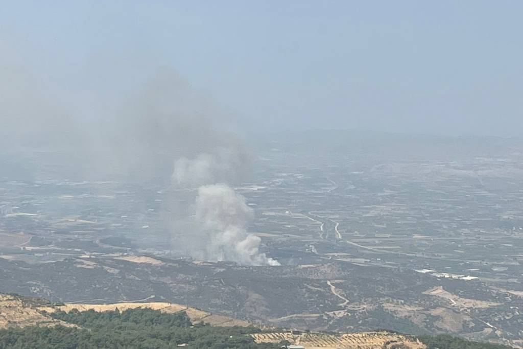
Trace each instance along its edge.
{"label": "dry golden slopes bordering the dark green foreground trees", "polygon": [[[120,302],[111,304],[65,303],[53,304],[37,298],[20,297],[16,295],[2,295],[0,297],[0,328],[14,327],[42,327],[63,325],[77,327],[78,324],[69,323],[55,317],[56,313],[74,314],[88,311],[95,312],[124,312],[135,309],[151,309],[164,314],[179,314],[185,312],[192,324],[207,324],[212,327],[244,327],[252,324],[238,319],[211,314],[199,309],[185,307],[168,302]],[[64,319],[65,320],[65,319]],[[293,331],[275,331],[254,333],[252,337],[256,343],[280,343],[289,341],[300,344],[305,348],[352,348],[371,349],[386,347],[385,344],[402,343],[405,348],[422,349],[425,346],[406,336],[390,332],[361,332],[351,334],[302,333]]]}

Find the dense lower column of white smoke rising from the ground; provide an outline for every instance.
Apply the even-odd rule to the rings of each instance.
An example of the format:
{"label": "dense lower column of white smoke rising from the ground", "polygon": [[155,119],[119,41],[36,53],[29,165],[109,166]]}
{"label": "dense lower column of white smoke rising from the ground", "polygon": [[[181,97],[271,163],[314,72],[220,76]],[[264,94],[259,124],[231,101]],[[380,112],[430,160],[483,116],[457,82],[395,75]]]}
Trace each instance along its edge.
{"label": "dense lower column of white smoke rising from the ground", "polygon": [[248,234],[253,211],[245,197],[225,184],[201,186],[195,201],[200,239],[207,241],[205,255],[211,261],[234,261],[246,265],[280,265],[259,252],[260,238]]}

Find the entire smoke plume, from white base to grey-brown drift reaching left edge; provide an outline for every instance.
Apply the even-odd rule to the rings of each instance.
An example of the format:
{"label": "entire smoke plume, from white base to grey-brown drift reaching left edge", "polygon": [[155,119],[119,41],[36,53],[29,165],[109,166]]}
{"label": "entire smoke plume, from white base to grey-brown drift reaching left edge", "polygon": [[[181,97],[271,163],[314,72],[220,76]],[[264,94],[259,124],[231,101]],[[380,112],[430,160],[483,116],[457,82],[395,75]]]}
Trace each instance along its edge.
{"label": "entire smoke plume, from white base to grey-brown drift reaching left edge", "polygon": [[[245,146],[229,132],[233,118],[176,71],[156,71],[122,100],[107,104],[94,94],[89,105],[64,106],[3,47],[0,53],[0,147],[64,153],[60,163],[72,167],[67,177],[172,184],[165,215],[173,247],[210,261],[277,264],[246,231],[253,213],[245,198],[220,184],[241,181],[249,164]],[[71,97],[62,99],[83,100]]]}

